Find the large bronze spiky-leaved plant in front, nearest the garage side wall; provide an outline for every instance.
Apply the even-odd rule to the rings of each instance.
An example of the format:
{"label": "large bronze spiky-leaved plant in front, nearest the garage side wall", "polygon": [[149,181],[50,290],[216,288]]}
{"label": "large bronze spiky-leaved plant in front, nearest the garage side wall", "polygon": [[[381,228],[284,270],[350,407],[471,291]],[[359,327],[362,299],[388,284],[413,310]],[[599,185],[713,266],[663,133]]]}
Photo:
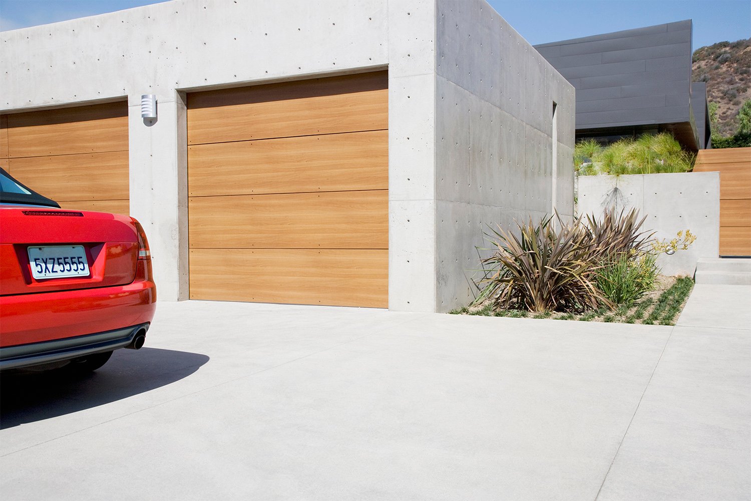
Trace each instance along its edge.
{"label": "large bronze spiky-leaved plant in front, nearest the garage side wall", "polygon": [[614,307],[596,286],[601,249],[590,231],[579,219],[570,225],[556,220],[559,231],[548,217],[538,225],[517,223],[517,234],[500,227],[486,234],[493,252],[482,260],[484,287],[475,303],[490,298],[497,309],[532,312]]}

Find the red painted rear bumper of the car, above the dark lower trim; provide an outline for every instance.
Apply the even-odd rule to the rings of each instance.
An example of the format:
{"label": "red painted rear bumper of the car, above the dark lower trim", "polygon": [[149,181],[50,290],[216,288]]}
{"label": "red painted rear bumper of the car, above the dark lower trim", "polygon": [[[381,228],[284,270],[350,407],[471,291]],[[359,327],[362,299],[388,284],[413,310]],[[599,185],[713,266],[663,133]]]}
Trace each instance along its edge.
{"label": "red painted rear bumper of the car, above the dark lower trim", "polygon": [[75,291],[0,296],[0,347],[65,340],[149,324],[156,309],[150,280]]}

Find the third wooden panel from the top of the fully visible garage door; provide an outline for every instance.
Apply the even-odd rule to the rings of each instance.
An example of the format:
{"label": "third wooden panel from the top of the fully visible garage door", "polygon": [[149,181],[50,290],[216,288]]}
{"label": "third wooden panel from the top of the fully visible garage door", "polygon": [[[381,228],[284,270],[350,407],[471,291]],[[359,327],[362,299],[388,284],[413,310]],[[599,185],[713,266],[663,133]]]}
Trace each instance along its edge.
{"label": "third wooden panel from the top of the fully visible garage door", "polygon": [[190,247],[388,249],[388,190],[191,197]]}

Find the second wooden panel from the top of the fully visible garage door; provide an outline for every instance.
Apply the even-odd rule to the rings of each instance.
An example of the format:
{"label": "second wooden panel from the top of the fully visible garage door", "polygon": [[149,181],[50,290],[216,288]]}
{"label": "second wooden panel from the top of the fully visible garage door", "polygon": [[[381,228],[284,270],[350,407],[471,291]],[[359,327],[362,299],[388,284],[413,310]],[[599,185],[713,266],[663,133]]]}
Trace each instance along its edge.
{"label": "second wooden panel from the top of the fully visible garage door", "polygon": [[189,146],[191,196],[388,189],[388,131]]}

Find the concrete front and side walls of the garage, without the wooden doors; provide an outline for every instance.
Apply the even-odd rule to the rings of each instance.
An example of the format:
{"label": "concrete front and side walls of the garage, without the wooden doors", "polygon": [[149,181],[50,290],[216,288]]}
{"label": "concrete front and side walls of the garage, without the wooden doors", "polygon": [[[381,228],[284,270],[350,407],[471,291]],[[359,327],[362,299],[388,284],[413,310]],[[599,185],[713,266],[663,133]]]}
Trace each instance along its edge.
{"label": "concrete front and side walls of the garage, without the wooden doors", "polygon": [[[550,211],[551,100],[572,212],[572,88],[485,2],[174,0],[0,40],[2,113],[127,99],[131,214],[161,300],[189,293],[187,92],[388,68],[391,309],[466,302],[481,225]],[[158,119],[141,119],[141,94],[157,96]]]}

